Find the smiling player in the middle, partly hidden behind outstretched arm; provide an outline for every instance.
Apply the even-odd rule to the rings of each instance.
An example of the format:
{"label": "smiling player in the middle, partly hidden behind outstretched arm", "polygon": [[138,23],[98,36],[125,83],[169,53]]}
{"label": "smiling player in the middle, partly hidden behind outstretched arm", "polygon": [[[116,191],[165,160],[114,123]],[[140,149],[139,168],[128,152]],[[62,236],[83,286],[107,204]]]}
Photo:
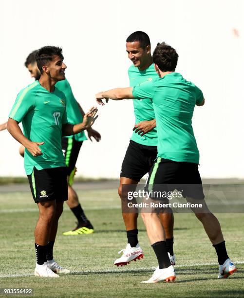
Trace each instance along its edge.
{"label": "smiling player in the middle, partly hidden behind outstretched arm", "polygon": [[[136,31],[132,33],[126,39],[126,51],[133,63],[128,71],[131,87],[146,81],[154,81],[158,77],[152,63],[150,38],[145,32]],[[157,130],[151,99],[133,100],[133,105],[135,126],[122,163],[118,188],[122,204],[125,200],[122,194],[122,185],[131,185],[135,189],[141,178],[149,172],[157,157]],[[122,250],[123,255],[114,261],[114,265],[117,266],[129,264],[130,261],[143,257],[143,250],[137,238],[138,213],[126,213],[122,210],[122,216],[126,226],[128,244],[126,249]],[[175,264],[171,208],[167,212],[161,213],[160,219],[166,232],[169,258],[172,264]]]}

